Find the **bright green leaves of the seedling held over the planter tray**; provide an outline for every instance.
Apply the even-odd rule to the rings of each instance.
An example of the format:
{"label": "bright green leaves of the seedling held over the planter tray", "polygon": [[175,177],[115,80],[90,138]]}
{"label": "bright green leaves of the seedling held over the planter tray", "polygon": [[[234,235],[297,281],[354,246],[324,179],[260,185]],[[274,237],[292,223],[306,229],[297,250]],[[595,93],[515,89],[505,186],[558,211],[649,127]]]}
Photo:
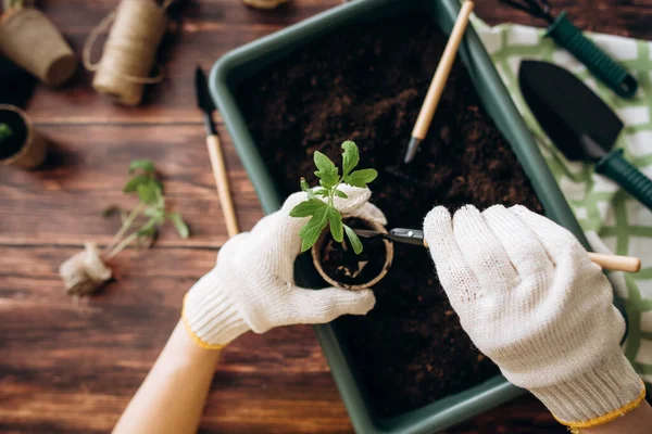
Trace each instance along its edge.
{"label": "bright green leaves of the seedling held over the planter tray", "polygon": [[[341,243],[344,239],[344,232],[349,239],[353,252],[362,252],[362,243],[353,232],[353,229],[342,224],[342,215],[335,207],[335,196],[348,199],[347,194],[338,187],[342,183],[352,187],[366,188],[378,176],[375,169],[353,170],[360,163],[360,153],[358,146],[352,141],[342,143],[342,173],[339,168],[319,151],[315,151],[314,161],[317,170],[315,175],[319,178],[321,189],[311,189],[304,178],[301,178],[301,190],[308,194],[308,200],[301,202],[290,210],[291,217],[311,217],[301,228],[301,252],[308,251],[316,242],[322,231],[328,226],[333,239]],[[323,200],[319,197],[324,197]]]}

